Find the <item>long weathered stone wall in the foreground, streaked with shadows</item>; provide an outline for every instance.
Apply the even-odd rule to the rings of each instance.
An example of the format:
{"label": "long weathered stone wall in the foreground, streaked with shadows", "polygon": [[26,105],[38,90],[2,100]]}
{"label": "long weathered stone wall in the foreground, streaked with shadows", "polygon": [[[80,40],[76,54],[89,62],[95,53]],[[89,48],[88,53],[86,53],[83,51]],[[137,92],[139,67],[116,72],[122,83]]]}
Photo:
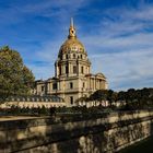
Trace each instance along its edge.
{"label": "long weathered stone wall in the foreground, streaked with shadows", "polygon": [[93,116],[44,117],[0,122],[0,152],[103,153],[118,150],[152,134],[153,111]]}

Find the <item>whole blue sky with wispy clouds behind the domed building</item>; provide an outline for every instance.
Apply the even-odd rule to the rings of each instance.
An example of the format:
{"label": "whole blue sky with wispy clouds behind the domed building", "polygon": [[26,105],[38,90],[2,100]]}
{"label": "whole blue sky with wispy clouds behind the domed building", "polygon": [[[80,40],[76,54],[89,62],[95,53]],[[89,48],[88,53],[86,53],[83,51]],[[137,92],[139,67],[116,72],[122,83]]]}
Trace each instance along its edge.
{"label": "whole blue sky with wispy clouds behind the domed building", "polygon": [[153,86],[153,0],[0,0],[0,47],[17,50],[36,79],[51,78],[71,16],[110,89]]}

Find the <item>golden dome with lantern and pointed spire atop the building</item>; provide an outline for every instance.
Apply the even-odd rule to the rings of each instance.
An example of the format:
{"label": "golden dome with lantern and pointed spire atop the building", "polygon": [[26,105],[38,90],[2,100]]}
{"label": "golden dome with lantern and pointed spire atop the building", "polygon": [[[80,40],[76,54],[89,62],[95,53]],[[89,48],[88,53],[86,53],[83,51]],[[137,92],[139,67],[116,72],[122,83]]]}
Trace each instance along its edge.
{"label": "golden dome with lantern and pointed spire atop the building", "polygon": [[68,52],[85,52],[85,48],[82,43],[76,38],[75,28],[73,26],[73,21],[71,20],[68,39],[61,45],[59,50],[59,56]]}

